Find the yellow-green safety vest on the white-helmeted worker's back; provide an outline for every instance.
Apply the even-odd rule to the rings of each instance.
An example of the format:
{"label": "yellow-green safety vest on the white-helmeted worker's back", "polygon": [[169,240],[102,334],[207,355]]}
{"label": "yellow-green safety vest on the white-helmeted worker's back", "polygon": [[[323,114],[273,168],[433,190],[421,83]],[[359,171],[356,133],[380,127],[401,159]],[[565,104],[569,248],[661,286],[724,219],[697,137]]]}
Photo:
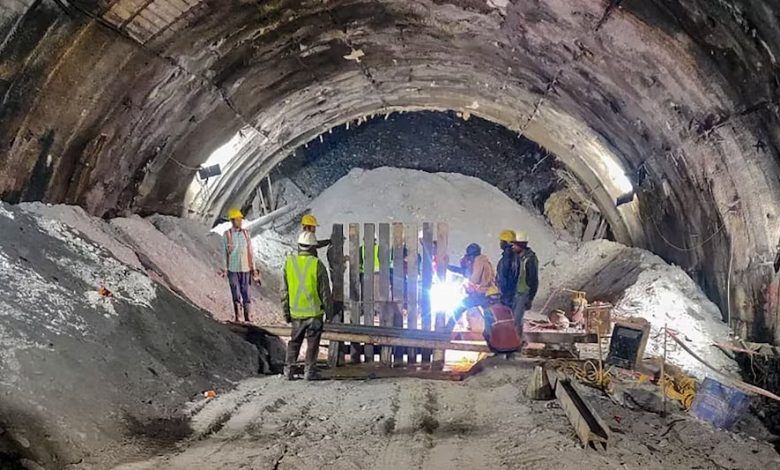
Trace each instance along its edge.
{"label": "yellow-green safety vest on the white-helmeted worker's back", "polygon": [[323,314],[322,300],[317,291],[316,256],[292,255],[287,257],[284,274],[290,296],[290,316],[313,318]]}

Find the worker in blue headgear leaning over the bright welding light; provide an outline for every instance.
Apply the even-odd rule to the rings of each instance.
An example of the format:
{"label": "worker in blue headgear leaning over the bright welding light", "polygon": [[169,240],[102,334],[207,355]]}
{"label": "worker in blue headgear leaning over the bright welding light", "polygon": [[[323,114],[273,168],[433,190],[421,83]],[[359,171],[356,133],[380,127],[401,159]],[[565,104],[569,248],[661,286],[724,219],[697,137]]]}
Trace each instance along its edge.
{"label": "worker in blue headgear leaning over the bright welding light", "polygon": [[482,247],[478,244],[472,243],[466,247],[461,266],[468,275],[466,298],[452,312],[452,317],[447,321],[447,331],[455,328],[463,312],[474,307],[487,307],[491,302],[490,296],[498,292],[493,264],[482,254]]}

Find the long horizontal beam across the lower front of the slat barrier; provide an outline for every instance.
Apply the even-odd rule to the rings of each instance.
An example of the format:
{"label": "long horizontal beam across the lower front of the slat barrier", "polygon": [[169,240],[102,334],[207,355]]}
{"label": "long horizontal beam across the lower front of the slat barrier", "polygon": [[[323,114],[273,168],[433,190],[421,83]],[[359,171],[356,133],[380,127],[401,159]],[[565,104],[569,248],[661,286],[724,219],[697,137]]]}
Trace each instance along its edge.
{"label": "long horizontal beam across the lower front of the slat barrier", "polygon": [[[232,325],[231,325],[232,326]],[[344,326],[344,325],[336,325]],[[289,326],[262,326],[257,327],[253,325],[237,325],[236,329],[243,327],[244,329],[257,328],[267,334],[280,337],[290,336]],[[383,336],[381,334],[364,334],[364,333],[345,333],[340,331],[331,331],[327,328],[322,331],[322,339],[328,341],[352,341],[356,343],[364,343],[366,345],[380,345],[380,346],[407,346],[412,348],[421,349],[449,349],[453,351],[473,351],[473,352],[490,352],[490,348],[485,343],[456,343],[452,341],[439,341],[432,339],[419,339],[419,338],[403,338],[396,336]],[[367,347],[367,346],[366,346]]]}

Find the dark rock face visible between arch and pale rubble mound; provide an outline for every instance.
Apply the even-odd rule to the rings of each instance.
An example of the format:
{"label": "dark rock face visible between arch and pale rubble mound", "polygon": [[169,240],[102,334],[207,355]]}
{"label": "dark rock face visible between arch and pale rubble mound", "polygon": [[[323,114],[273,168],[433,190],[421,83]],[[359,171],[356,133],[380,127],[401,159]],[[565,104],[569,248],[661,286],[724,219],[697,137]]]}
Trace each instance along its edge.
{"label": "dark rock face visible between arch and pale rubble mound", "polygon": [[391,166],[431,173],[457,172],[479,178],[529,209],[560,188],[555,157],[509,129],[454,113],[405,113],[338,127],[300,147],[273,174],[290,178],[317,197],[353,168]]}

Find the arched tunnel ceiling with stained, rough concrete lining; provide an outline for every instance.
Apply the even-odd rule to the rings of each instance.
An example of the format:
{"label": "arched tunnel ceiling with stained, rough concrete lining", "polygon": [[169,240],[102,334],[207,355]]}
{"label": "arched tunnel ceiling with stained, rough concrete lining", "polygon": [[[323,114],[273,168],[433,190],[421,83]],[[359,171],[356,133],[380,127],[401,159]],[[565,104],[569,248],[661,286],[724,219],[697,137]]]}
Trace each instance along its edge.
{"label": "arched tunnel ceiling with stained, rough concrete lining", "polygon": [[[219,209],[333,126],[469,112],[554,152],[619,239],[689,269],[734,326],[777,333],[764,295],[780,228],[770,0],[2,5],[4,199],[179,212],[187,167],[248,126],[258,137]],[[615,207],[604,158],[638,203]]]}

